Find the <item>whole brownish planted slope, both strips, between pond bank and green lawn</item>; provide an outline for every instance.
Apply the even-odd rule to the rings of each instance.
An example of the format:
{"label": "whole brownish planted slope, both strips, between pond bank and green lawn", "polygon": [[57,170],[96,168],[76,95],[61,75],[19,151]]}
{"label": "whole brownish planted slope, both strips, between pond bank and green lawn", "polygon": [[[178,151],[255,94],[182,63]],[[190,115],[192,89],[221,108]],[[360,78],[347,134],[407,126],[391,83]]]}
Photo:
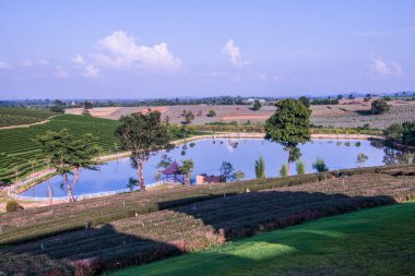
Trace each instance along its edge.
{"label": "whole brownish planted slope, both strips, between pond bank and green lawn", "polygon": [[[330,175],[321,181],[318,176],[300,176],[214,189],[129,193],[54,206],[52,214],[44,207],[1,215],[0,267],[9,274],[96,275],[145,264],[320,217],[414,199],[413,169],[363,170],[344,183]],[[258,192],[232,193],[246,188]],[[85,225],[88,229],[75,230]],[[67,232],[60,233],[64,228]]]}

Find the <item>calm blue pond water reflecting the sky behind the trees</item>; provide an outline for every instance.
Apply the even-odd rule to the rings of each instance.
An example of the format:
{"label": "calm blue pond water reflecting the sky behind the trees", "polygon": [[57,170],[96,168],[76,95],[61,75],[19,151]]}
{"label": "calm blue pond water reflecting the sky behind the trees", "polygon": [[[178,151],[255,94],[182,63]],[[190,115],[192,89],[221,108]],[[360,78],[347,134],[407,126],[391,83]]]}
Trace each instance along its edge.
{"label": "calm blue pond water reflecting the sky behind the trees", "polygon": [[[313,172],[312,163],[317,157],[323,158],[330,170],[354,168],[359,153],[369,158],[365,167],[390,164],[396,154],[395,151],[384,147],[382,144],[370,141],[357,140],[313,140],[299,145],[300,159],[306,163],[306,171]],[[277,177],[282,164],[286,163],[287,155],[283,147],[265,140],[201,140],[191,144],[177,146],[169,152],[159,152],[153,155],[145,165],[145,182],[156,182],[157,164],[163,155],[167,155],[171,161],[179,164],[183,159],[193,159],[194,170],[192,178],[200,173],[220,175],[223,161],[230,163],[235,170],[241,170],[246,179],[254,178],[254,161],[262,156],[265,160],[266,177]],[[295,175],[295,164],[292,165],[292,175]],[[75,195],[106,192],[124,189],[130,178],[138,178],[131,167],[129,158],[108,161],[99,166],[99,170],[81,170],[79,181],[74,189]],[[50,180],[54,196],[67,195],[63,189],[61,176]],[[48,181],[42,182],[22,193],[27,196],[47,196]]]}

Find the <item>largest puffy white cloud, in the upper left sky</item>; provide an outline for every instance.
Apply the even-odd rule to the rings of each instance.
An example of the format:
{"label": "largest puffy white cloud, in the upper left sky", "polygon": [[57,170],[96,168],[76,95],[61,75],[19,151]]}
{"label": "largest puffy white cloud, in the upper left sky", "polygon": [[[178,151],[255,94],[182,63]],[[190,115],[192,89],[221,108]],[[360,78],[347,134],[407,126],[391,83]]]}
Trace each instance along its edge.
{"label": "largest puffy white cloud, in the upper left sky", "polygon": [[168,50],[166,43],[154,46],[139,45],[135,38],[123,31],[116,31],[96,44],[104,51],[95,53],[97,63],[111,68],[140,64],[144,68],[177,69],[182,62]]}

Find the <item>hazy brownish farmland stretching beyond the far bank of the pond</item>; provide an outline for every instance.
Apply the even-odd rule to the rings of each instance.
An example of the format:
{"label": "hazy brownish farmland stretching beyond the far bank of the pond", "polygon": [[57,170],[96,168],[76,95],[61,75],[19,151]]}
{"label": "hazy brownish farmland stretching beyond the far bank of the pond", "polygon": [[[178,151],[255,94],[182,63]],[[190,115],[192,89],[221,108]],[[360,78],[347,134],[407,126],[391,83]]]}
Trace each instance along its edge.
{"label": "hazy brownish farmland stretching beyond the far bank of the pond", "polygon": [[[386,115],[370,115],[370,101],[363,99],[341,100],[340,105],[311,106],[311,123],[317,127],[358,128],[369,124],[370,128],[383,130],[394,122],[412,121],[415,118],[415,101],[392,100],[390,112]],[[275,111],[274,106],[263,106],[260,110],[250,109],[249,105],[191,105],[191,106],[163,106],[163,107],[104,107],[94,108],[90,112],[94,117],[105,119],[119,119],[121,116],[133,112],[147,112],[157,110],[162,118],[168,118],[171,123],[181,123],[185,118],[183,110],[192,111],[194,120],[191,124],[201,125],[213,122],[263,123]],[[209,117],[214,110],[216,116]],[[67,113],[80,115],[82,108],[67,109]]]}

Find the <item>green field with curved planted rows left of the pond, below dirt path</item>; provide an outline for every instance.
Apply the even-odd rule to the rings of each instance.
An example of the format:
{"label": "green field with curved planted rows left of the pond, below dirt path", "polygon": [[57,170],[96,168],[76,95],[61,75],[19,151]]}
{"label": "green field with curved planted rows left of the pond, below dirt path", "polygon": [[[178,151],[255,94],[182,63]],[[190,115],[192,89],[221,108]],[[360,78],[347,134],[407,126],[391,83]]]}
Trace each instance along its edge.
{"label": "green field with curved planted rows left of the pond, below dirt path", "polygon": [[17,168],[19,176],[29,173],[32,171],[31,159],[36,161],[35,170],[45,167],[45,157],[42,155],[40,145],[34,139],[48,130],[68,129],[74,136],[92,133],[104,154],[115,152],[114,131],[117,125],[118,121],[114,120],[61,115],[51,118],[44,124],[0,130],[0,181],[14,181],[14,167]]}

